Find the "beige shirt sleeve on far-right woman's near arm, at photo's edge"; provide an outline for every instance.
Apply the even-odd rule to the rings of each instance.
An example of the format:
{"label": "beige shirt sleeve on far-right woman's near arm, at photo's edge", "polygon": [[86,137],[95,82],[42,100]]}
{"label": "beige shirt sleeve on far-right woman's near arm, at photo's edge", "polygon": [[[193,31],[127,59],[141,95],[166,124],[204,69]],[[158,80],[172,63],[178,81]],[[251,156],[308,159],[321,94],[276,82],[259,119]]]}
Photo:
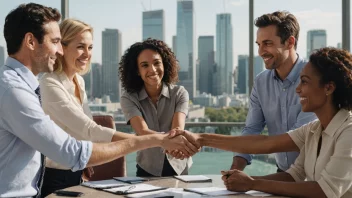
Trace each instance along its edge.
{"label": "beige shirt sleeve on far-right woman's near arm, at photo's edge", "polygon": [[328,198],[343,196],[352,186],[352,127],[341,133],[318,184]]}

